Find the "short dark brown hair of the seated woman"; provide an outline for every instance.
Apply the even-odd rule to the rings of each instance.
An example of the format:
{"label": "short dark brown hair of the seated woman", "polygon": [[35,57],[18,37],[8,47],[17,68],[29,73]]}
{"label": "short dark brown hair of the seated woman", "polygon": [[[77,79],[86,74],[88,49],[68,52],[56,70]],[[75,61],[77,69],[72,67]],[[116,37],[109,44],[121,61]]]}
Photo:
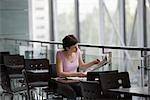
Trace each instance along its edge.
{"label": "short dark brown hair of the seated woman", "polygon": [[74,35],[67,35],[63,38],[63,48],[66,51],[66,47],[71,47],[72,45],[75,45],[78,43],[77,38]]}

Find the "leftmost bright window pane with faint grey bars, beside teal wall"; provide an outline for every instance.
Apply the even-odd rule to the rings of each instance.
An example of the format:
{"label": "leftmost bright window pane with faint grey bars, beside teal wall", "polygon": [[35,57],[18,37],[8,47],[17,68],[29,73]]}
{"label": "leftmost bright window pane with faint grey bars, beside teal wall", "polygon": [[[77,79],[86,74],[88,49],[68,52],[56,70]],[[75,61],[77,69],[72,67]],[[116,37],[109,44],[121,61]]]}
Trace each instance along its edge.
{"label": "leftmost bright window pane with faint grey bars, beside teal wall", "polygon": [[33,40],[49,41],[49,7],[48,0],[32,0],[31,21]]}

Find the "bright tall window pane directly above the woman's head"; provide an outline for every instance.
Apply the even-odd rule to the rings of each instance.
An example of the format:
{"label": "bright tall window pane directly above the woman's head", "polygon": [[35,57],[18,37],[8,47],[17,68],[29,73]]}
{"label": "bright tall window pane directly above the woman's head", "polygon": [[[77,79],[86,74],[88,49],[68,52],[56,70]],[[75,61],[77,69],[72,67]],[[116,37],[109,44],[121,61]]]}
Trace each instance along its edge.
{"label": "bright tall window pane directly above the woman's head", "polygon": [[57,41],[61,41],[67,34],[75,34],[74,9],[74,0],[57,0]]}

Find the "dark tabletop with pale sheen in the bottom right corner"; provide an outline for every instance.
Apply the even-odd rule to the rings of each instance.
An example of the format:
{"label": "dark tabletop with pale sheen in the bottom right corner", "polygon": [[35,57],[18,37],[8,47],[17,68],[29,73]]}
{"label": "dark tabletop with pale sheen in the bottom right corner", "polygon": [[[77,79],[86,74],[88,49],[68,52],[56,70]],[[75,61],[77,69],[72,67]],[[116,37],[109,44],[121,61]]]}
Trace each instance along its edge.
{"label": "dark tabletop with pale sheen in the bottom right corner", "polygon": [[149,97],[150,98],[150,89],[148,89],[148,87],[131,87],[131,88],[109,89],[108,91],[120,93],[120,94],[131,94],[133,96]]}

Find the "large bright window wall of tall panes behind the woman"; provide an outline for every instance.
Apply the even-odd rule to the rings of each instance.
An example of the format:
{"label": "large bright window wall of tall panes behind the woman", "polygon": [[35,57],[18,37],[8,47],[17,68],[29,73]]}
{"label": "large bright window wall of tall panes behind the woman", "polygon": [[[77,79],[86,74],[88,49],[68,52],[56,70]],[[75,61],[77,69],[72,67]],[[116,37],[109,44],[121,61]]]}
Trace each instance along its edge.
{"label": "large bright window wall of tall panes behind the woman", "polygon": [[[44,0],[37,1],[40,2]],[[47,2],[47,0],[45,1]],[[149,0],[145,0],[147,14],[146,31],[143,27],[144,6],[142,3],[144,3],[144,0],[49,0],[49,2],[50,1],[52,1],[53,6],[49,7],[52,8],[50,15],[53,17],[53,31],[52,33],[48,31],[41,32],[39,29],[47,27],[48,23],[39,24],[39,19],[43,17],[33,17],[33,21],[37,25],[33,27],[33,34],[38,34],[36,35],[37,37],[46,37],[46,40],[49,40],[49,35],[53,34],[54,40],[61,42],[64,36],[74,34],[79,37],[81,43],[144,47],[144,43],[147,42],[144,40],[144,33],[147,32],[147,37],[150,36],[150,22],[148,19],[150,15]],[[47,9],[47,5],[44,9]],[[39,6],[36,11],[37,13],[33,13],[33,16],[39,14],[42,8]],[[51,22],[51,20],[49,22]],[[150,46],[150,39],[147,38],[147,40],[147,44]],[[87,62],[102,56],[102,50],[99,48],[81,47],[81,50],[86,54],[85,60]],[[108,49],[106,51],[112,52],[112,69],[129,71],[132,77],[132,83],[139,85],[140,76],[137,66],[141,65],[141,52]]]}

